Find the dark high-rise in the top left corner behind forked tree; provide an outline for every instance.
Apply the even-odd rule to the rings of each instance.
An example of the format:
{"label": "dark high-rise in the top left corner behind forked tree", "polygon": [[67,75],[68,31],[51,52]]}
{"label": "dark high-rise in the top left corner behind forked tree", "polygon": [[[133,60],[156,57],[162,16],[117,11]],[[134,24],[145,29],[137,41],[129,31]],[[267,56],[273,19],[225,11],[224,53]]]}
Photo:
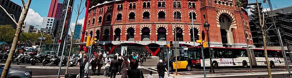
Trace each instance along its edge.
{"label": "dark high-rise in the top left corner behind forked tree", "polygon": [[[11,14],[11,17],[14,17],[16,22],[19,21],[20,14],[22,12],[21,6],[10,0],[0,0],[0,5],[6,9],[9,14]],[[2,9],[0,9],[0,25],[13,25],[13,28],[16,28],[16,24]]]}

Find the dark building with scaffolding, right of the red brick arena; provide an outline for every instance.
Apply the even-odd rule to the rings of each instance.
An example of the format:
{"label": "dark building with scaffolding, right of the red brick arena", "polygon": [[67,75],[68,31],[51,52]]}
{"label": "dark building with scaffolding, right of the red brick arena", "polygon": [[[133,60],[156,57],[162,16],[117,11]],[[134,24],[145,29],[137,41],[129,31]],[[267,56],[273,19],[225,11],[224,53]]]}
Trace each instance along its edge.
{"label": "dark building with scaffolding, right of the red brick arena", "polygon": [[[267,8],[262,8],[261,5],[262,3],[259,3],[262,20],[265,20],[263,22],[263,28],[266,32],[265,34],[267,46],[280,46],[280,39],[277,32],[277,29],[279,29],[280,36],[285,46],[285,50],[287,50],[289,46],[292,46],[292,6],[277,9],[271,8],[271,10],[266,11]],[[260,29],[256,2],[249,2],[248,8],[248,10],[250,10],[251,12],[251,15],[248,16],[248,19],[251,28],[253,43],[256,47],[262,47],[263,37],[262,31]],[[270,47],[270,49],[278,48]]]}

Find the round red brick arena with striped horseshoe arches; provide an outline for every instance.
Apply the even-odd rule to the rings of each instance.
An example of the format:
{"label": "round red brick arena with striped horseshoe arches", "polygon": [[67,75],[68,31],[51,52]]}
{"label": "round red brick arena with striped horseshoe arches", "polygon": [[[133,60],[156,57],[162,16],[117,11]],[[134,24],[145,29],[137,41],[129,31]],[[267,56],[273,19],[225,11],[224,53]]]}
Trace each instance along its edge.
{"label": "round red brick arena with striped horseshoe arches", "polygon": [[[242,0],[241,0],[242,1]],[[253,47],[251,33],[245,37],[247,12],[235,7],[236,0],[116,0],[90,6],[86,31],[93,31],[98,44],[111,53],[132,50],[157,55],[168,41],[180,47],[198,46],[203,24],[210,24],[211,46]],[[242,1],[243,7],[247,0]],[[243,17],[243,19],[241,18]],[[194,36],[192,31],[192,19]],[[247,22],[242,24],[241,22]],[[84,25],[85,26],[85,25]],[[176,33],[175,33],[176,30]],[[86,40],[86,39],[84,39]],[[109,47],[111,49],[109,49]]]}

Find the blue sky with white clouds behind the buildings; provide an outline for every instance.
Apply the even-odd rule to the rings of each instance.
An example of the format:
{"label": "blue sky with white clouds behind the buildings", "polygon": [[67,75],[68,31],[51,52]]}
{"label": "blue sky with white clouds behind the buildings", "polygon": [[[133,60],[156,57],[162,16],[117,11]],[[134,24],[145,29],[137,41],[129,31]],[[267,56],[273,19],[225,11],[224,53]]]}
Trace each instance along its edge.
{"label": "blue sky with white clouds behind the buildings", "polygon": [[[19,5],[21,5],[21,0],[11,0]],[[26,2],[26,0],[24,0]],[[84,1],[84,0],[83,0]],[[249,0],[249,2],[256,1],[256,0]],[[262,0],[259,0],[262,2]],[[42,21],[42,17],[47,17],[49,7],[50,7],[51,0],[32,0],[30,5],[30,10],[27,16],[27,19],[25,19],[25,22],[30,25],[40,25]],[[74,8],[77,8],[77,4],[80,3],[80,0],[75,0],[74,2]],[[273,5],[273,8],[275,8],[275,5],[277,5],[277,8],[281,7],[287,7],[290,6],[292,3],[292,0],[271,0],[271,3]],[[81,7],[85,7],[85,3],[83,2]],[[267,7],[267,4],[263,4],[263,7]],[[73,27],[75,21],[76,21],[77,14],[73,11],[72,18],[71,18],[71,27]],[[82,12],[82,14],[78,18],[78,22],[82,23],[84,22],[85,17],[85,10]],[[36,27],[40,28],[40,27]]]}

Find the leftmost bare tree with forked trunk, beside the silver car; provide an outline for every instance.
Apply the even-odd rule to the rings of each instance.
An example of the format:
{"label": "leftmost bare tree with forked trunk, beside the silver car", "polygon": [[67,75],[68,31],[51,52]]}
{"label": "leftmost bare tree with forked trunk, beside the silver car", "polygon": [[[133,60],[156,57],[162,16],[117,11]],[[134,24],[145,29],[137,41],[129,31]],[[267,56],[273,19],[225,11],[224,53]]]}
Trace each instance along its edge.
{"label": "leftmost bare tree with forked trunk, beside the silver car", "polygon": [[16,32],[14,34],[14,39],[13,39],[13,42],[12,42],[12,46],[11,46],[11,50],[9,52],[9,55],[8,55],[8,58],[7,58],[7,61],[5,63],[5,67],[3,69],[3,72],[2,72],[2,75],[1,75],[1,78],[6,78],[7,76],[7,73],[9,71],[9,68],[10,68],[10,65],[11,65],[11,62],[12,62],[12,57],[13,57],[13,54],[16,50],[16,46],[17,46],[17,41],[19,40],[19,36],[20,36],[20,32],[21,32],[21,28],[22,28],[22,25],[24,23],[24,20],[26,18],[26,15],[27,15],[27,12],[28,12],[28,9],[30,7],[30,2],[31,0],[27,0],[27,3],[25,4],[23,0],[22,1],[22,4],[23,4],[23,7],[24,7],[24,10],[23,12],[21,13],[21,17],[19,19],[18,22],[16,22],[14,20],[14,18],[12,18],[9,13],[0,5],[0,7],[4,10],[4,12],[10,17],[10,19],[16,24],[17,28],[16,28]]}

